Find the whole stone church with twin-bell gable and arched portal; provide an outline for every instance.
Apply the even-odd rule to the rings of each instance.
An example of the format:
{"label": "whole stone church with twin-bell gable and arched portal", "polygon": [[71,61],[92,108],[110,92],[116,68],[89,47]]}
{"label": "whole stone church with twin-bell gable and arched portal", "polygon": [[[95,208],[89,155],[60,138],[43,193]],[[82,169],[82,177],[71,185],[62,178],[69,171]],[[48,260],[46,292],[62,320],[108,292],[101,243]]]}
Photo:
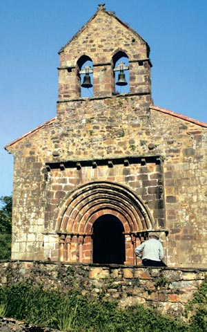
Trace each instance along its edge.
{"label": "whole stone church with twin-bell gable and arched portal", "polygon": [[168,266],[206,267],[207,123],[153,105],[150,48],[104,5],[59,57],[57,116],[5,147],[12,259],[139,266],[159,232]]}

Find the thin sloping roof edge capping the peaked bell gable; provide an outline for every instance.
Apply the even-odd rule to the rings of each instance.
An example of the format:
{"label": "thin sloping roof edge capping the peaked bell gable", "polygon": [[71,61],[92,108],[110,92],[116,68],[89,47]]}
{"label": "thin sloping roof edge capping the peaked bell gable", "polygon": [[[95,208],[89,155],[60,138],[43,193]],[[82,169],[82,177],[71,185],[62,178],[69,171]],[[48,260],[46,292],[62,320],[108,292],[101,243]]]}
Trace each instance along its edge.
{"label": "thin sloping roof edge capping the peaked bell gable", "polygon": [[69,40],[69,42],[67,44],[65,44],[58,53],[63,52],[64,48],[66,48],[66,46],[68,46],[74,39],[77,39],[79,37],[79,35],[83,32],[83,30],[86,30],[86,28],[88,28],[88,25],[90,24],[90,22],[95,19],[95,17],[97,15],[99,15],[99,12],[104,12],[106,13],[106,15],[109,15],[110,17],[114,17],[114,19],[116,19],[117,21],[119,21],[119,23],[124,26],[125,28],[127,28],[128,30],[130,30],[133,34],[135,34],[137,37],[139,37],[148,47],[148,53],[150,53],[150,46],[148,46],[148,43],[146,42],[146,40],[144,40],[144,38],[142,38],[135,30],[133,30],[132,28],[130,28],[130,26],[126,23],[124,23],[124,21],[121,21],[121,19],[119,19],[119,17],[117,17],[115,15],[115,12],[110,12],[110,11],[106,11],[104,9],[98,9],[97,12],[95,12],[95,15],[93,15],[88,22],[86,22],[86,24],[84,24],[82,26],[82,28],[79,29],[79,31]]}

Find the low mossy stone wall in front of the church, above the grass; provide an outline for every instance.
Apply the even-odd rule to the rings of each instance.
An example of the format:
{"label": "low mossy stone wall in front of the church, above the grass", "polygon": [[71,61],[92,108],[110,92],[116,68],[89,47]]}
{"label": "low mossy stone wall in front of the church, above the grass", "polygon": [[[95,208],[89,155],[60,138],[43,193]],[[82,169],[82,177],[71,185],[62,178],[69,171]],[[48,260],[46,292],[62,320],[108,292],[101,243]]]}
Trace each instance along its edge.
{"label": "low mossy stone wall in front of the church, above the grass", "polygon": [[45,288],[118,300],[121,307],[144,304],[174,317],[184,314],[207,275],[207,269],[144,268],[140,266],[100,266],[60,264],[41,261],[1,261],[0,285],[14,282],[44,284]]}

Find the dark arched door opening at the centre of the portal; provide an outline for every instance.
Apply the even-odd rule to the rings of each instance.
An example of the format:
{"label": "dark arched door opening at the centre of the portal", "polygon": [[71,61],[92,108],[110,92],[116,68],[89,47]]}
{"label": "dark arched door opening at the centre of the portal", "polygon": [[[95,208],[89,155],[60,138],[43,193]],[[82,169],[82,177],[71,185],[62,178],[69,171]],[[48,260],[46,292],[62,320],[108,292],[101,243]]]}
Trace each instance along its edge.
{"label": "dark arched door opening at the centre of the portal", "polygon": [[116,216],[105,214],[93,224],[92,262],[99,264],[124,264],[124,226]]}

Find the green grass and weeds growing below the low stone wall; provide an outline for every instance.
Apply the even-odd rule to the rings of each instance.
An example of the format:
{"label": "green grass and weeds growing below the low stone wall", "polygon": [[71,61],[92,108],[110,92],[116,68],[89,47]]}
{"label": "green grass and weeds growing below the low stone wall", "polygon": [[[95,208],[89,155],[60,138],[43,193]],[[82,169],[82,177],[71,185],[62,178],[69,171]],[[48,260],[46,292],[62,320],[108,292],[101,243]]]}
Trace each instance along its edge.
{"label": "green grass and weeds growing below the low stone wall", "polygon": [[188,324],[144,306],[123,309],[115,301],[92,299],[77,291],[48,291],[30,283],[0,288],[0,314],[64,332],[207,331],[206,282],[199,292],[188,305]]}

